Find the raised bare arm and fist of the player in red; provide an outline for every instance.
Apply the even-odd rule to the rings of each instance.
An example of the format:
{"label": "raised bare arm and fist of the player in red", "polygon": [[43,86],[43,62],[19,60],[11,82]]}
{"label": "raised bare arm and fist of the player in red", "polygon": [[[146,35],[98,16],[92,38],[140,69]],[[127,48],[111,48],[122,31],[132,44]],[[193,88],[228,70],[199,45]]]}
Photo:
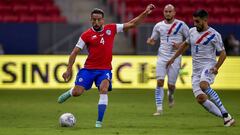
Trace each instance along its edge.
{"label": "raised bare arm and fist of the player in red", "polygon": [[137,17],[135,17],[134,19],[132,19],[131,21],[124,23],[123,24],[123,30],[127,31],[131,28],[136,27],[140,22],[142,22],[142,20],[152,12],[152,10],[155,8],[155,6],[153,4],[149,4],[147,6],[147,8],[145,9],[145,11],[143,11],[140,15],[138,15]]}

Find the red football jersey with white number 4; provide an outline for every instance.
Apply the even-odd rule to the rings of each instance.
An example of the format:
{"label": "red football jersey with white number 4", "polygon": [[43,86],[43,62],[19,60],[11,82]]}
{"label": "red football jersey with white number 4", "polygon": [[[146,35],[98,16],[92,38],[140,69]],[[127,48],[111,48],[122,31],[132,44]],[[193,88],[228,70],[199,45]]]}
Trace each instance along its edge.
{"label": "red football jersey with white number 4", "polygon": [[100,32],[90,28],[81,35],[80,39],[85,42],[88,50],[84,68],[112,69],[112,49],[116,33],[117,25],[108,24]]}

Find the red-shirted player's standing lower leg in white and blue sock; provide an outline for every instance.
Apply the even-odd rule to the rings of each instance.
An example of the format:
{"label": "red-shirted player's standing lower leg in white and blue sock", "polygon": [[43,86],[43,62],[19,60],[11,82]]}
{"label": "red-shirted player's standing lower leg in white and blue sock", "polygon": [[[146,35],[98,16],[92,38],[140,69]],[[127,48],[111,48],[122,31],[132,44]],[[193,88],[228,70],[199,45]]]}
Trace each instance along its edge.
{"label": "red-shirted player's standing lower leg in white and blue sock", "polygon": [[95,127],[101,128],[102,127],[102,120],[104,113],[106,111],[108,104],[108,95],[107,94],[100,94],[99,102],[98,102],[98,119],[96,121]]}

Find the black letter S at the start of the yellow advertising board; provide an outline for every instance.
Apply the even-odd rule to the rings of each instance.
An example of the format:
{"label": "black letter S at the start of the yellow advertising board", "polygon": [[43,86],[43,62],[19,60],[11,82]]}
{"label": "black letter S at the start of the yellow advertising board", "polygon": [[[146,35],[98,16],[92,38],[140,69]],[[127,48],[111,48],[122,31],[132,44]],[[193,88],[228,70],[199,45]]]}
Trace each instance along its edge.
{"label": "black letter S at the start of the yellow advertising board", "polygon": [[6,74],[8,74],[9,76],[12,77],[11,80],[3,80],[2,81],[3,83],[14,83],[17,80],[17,75],[16,75],[16,73],[12,72],[9,69],[10,66],[14,66],[15,67],[16,63],[9,62],[9,63],[4,64],[3,67],[2,67],[3,72],[5,72]]}

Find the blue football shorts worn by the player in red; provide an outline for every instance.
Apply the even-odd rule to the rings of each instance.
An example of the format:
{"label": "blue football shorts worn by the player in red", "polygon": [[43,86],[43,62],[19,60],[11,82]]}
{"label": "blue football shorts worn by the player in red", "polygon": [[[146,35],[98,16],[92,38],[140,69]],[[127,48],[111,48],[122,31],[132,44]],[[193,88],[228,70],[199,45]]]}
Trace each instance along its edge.
{"label": "blue football shorts worn by the player in red", "polygon": [[94,70],[82,68],[78,71],[75,85],[82,86],[85,90],[92,88],[93,82],[95,82],[96,87],[99,89],[100,84],[103,80],[109,80],[108,91],[112,90],[112,72],[111,70]]}

